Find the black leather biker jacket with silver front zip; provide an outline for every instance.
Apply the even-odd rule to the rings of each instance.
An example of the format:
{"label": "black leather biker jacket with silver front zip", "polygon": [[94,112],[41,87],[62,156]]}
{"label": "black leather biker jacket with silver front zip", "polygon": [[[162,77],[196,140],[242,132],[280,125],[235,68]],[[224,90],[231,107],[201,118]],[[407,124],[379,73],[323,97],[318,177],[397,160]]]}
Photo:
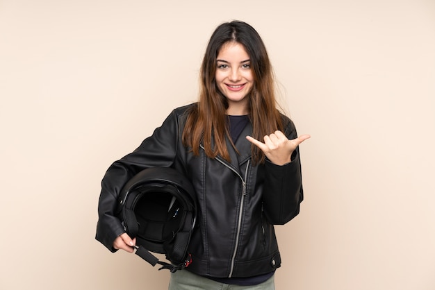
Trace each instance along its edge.
{"label": "black leather biker jacket with silver front zip", "polygon": [[[299,213],[303,199],[298,149],[292,162],[252,166],[248,123],[236,142],[239,155],[228,142],[231,163],[221,157],[194,156],[181,144],[190,105],[175,109],[153,135],[121,160],[102,180],[96,239],[109,250],[124,232],[115,217],[122,186],[147,167],[173,167],[192,180],[197,194],[198,228],[192,234],[189,271],[217,278],[250,277],[270,273],[281,265],[273,225],[284,224]],[[297,137],[293,122],[284,117],[284,133]]]}

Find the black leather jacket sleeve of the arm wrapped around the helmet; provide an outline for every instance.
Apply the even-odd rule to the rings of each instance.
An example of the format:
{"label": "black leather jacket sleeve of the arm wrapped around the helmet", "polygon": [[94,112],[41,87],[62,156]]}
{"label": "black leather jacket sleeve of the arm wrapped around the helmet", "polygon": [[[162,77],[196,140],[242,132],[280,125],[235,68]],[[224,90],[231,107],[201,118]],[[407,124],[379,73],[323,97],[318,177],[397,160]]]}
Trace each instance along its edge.
{"label": "black leather jacket sleeve of the arm wrapped around the helmet", "polygon": [[151,137],[121,160],[113,162],[101,181],[101,194],[98,204],[98,222],[95,239],[115,252],[113,241],[124,232],[120,219],[117,218],[117,198],[124,184],[136,173],[149,167],[170,167],[177,153],[179,126],[177,112],[174,110],[156,128]]}

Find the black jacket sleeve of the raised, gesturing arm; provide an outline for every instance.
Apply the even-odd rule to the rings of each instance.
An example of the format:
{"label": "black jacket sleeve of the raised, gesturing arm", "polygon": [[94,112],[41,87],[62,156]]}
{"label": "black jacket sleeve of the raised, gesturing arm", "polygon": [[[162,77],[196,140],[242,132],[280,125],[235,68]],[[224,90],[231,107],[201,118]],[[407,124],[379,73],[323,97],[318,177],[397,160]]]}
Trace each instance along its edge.
{"label": "black jacket sleeve of the raised, gesturing arm", "polygon": [[[295,139],[296,128],[292,121],[288,121],[285,134],[288,139]],[[265,161],[263,186],[263,210],[270,223],[284,225],[299,214],[299,206],[304,199],[299,147],[288,164],[279,166]]]}

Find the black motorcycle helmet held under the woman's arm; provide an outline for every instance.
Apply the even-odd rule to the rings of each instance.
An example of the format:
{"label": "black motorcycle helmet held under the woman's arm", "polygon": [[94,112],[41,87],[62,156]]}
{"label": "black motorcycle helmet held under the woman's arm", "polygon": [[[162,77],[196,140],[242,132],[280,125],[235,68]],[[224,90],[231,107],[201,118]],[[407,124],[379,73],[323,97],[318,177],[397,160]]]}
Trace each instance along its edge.
{"label": "black motorcycle helmet held under the woman's arm", "polygon": [[[167,167],[145,169],[124,185],[119,198],[118,217],[126,233],[136,237],[137,255],[172,272],[192,262],[187,248],[197,207],[186,176]],[[165,254],[172,264],[159,261],[149,251]]]}

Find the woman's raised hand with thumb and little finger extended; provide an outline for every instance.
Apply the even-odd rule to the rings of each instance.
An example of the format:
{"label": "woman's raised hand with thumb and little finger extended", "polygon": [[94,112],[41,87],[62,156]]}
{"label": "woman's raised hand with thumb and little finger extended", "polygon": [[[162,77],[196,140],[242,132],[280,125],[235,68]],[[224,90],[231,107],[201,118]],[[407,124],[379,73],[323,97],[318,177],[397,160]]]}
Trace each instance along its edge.
{"label": "woman's raised hand with thumb and little finger extended", "polygon": [[251,136],[246,136],[246,139],[260,148],[266,157],[268,157],[270,162],[277,165],[284,165],[291,162],[293,151],[295,151],[299,144],[304,142],[306,139],[309,139],[309,137],[311,136],[301,135],[296,139],[289,140],[284,133],[277,130],[270,135],[265,135],[264,143],[252,138]]}

